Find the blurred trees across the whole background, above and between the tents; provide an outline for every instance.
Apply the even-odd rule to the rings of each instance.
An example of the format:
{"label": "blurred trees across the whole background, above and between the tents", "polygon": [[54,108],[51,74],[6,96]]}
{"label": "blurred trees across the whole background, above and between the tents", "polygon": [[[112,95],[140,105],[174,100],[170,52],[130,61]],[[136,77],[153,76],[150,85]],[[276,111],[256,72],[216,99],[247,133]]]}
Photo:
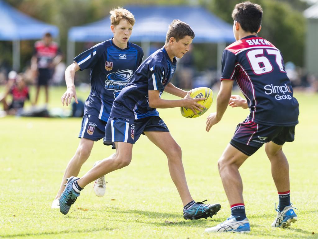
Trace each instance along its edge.
{"label": "blurred trees across the whole background, above and between the tents", "polygon": [[[213,12],[218,17],[232,24],[232,10],[239,0],[6,0],[18,10],[44,21],[57,25],[60,30],[61,50],[66,54],[67,31],[70,27],[83,25],[97,21],[108,15],[109,11],[117,6],[131,4],[153,5],[178,5],[200,4]],[[303,65],[303,49],[305,35],[305,19],[301,11],[307,8],[307,4],[301,0],[252,0],[259,3],[264,9],[262,30],[259,36],[271,41],[278,47],[285,61],[292,61],[296,65]],[[199,22],[198,22],[199,24]],[[108,28],[109,26],[105,26]],[[32,55],[34,41],[21,42],[21,68],[28,65]],[[78,46],[82,50],[82,46]],[[195,54],[196,64],[199,69],[215,66],[215,61],[210,57],[212,53],[204,50],[204,45],[196,46],[202,54]],[[291,50],[292,49],[292,50]],[[77,53],[79,52],[77,51]],[[0,42],[0,65],[11,64],[12,43]]]}

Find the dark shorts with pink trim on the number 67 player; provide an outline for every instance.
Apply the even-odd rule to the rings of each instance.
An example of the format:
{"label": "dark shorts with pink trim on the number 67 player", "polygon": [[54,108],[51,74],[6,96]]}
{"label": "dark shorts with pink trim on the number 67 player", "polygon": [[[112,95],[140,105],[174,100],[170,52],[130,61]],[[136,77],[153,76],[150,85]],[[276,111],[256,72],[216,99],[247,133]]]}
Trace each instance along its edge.
{"label": "dark shorts with pink trim on the number 67 player", "polygon": [[236,127],[230,144],[251,156],[269,141],[283,145],[285,142],[294,141],[294,136],[295,126],[268,126],[245,120]]}

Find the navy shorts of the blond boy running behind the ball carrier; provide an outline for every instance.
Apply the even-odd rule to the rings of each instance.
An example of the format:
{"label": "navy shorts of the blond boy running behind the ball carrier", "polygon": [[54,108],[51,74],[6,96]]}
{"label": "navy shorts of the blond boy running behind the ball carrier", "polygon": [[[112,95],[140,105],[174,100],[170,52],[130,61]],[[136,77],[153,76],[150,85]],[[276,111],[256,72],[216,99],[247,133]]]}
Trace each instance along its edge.
{"label": "navy shorts of the blond boy running behind the ball carrier", "polygon": [[105,137],[105,126],[104,120],[98,119],[97,116],[86,114],[83,116],[82,127],[79,132],[79,138],[90,139],[93,141],[99,141]]}

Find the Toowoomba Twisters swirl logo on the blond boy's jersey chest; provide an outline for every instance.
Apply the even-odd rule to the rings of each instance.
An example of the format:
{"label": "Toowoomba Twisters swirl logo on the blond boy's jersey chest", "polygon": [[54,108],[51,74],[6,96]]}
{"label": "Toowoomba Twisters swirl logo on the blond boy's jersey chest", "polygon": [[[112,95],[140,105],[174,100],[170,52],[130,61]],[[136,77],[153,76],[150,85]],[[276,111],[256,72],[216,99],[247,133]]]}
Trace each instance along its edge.
{"label": "Toowoomba Twisters swirl logo on the blond boy's jersey chest", "polygon": [[132,75],[132,70],[120,70],[117,72],[109,73],[106,76],[105,89],[121,91],[121,89],[128,84]]}

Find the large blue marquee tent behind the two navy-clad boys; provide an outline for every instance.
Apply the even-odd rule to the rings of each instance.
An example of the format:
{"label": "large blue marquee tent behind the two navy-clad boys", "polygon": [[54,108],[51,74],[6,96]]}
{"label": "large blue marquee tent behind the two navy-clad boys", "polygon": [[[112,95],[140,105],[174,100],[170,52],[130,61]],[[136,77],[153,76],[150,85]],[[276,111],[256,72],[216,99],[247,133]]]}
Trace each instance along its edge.
{"label": "large blue marquee tent behind the two navy-clad boys", "polygon": [[[141,42],[147,55],[149,42],[164,42],[173,19],[188,23],[195,33],[193,43],[217,43],[218,62],[226,42],[235,41],[232,26],[199,6],[126,6],[136,19],[130,41]],[[113,37],[109,16],[100,21],[70,28],[68,32],[68,63],[73,62],[76,41],[104,41]],[[218,66],[219,69],[219,66]]]}

